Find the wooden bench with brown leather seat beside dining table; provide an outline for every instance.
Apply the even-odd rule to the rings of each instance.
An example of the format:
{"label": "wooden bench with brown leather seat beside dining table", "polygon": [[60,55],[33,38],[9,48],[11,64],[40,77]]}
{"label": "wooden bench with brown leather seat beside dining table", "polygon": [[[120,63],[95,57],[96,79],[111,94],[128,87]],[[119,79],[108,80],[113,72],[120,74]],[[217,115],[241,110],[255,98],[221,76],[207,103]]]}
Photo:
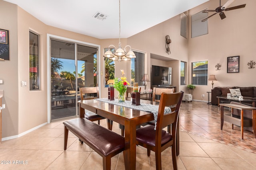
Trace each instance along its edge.
{"label": "wooden bench with brown leather seat beside dining table", "polygon": [[86,118],[64,121],[64,150],[67,149],[68,131],[86,143],[103,158],[103,169],[110,170],[111,158],[124,150],[124,137]]}

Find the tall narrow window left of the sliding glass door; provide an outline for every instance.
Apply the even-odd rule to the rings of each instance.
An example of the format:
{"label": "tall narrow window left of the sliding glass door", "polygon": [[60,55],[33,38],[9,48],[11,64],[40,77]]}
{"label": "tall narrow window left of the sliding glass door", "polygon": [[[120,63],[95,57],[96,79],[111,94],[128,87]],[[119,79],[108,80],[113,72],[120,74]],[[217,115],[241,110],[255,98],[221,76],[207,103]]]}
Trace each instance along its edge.
{"label": "tall narrow window left of the sliding glass door", "polygon": [[39,36],[29,31],[29,89],[39,90]]}

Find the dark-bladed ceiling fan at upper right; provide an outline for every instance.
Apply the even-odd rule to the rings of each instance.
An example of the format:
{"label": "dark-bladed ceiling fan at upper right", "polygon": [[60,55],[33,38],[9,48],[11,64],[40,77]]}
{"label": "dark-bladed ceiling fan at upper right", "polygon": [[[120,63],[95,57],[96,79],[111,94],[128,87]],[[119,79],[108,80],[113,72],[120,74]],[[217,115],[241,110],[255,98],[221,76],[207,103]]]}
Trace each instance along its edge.
{"label": "dark-bladed ceiling fan at upper right", "polygon": [[[246,5],[246,4],[242,4],[242,5],[238,5],[238,6],[233,6],[233,7],[227,8],[232,2],[234,2],[234,0],[228,0],[226,2],[226,4],[224,4],[223,6],[221,6],[221,2],[220,2],[220,6],[217,7],[215,10],[202,10],[202,12],[203,13],[216,12],[215,14],[220,13],[220,18],[223,20],[224,18],[226,18],[225,14],[224,14],[224,11],[230,11],[230,10],[236,10],[236,9],[239,9],[239,8],[244,8],[245,5]],[[208,18],[214,16],[215,14],[212,14],[212,15],[208,16],[207,18],[202,20],[202,22],[208,20]]]}

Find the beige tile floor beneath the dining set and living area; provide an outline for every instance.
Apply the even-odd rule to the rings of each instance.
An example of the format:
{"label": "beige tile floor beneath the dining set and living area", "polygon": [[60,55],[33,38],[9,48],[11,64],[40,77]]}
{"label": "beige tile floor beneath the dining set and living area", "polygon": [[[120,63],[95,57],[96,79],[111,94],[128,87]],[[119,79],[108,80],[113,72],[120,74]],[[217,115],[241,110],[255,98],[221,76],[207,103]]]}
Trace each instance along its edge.
{"label": "beige tile floor beneath the dining set and living area", "polygon": [[[229,111],[226,109],[225,111]],[[106,126],[106,120],[101,121]],[[113,131],[120,134],[118,124]],[[100,170],[102,158],[88,146],[81,145],[69,133],[68,149],[63,150],[62,121],[52,122],[22,137],[0,144],[2,170]],[[136,150],[136,170],[154,170],[155,156],[146,149]],[[205,102],[182,103],[180,109],[179,170],[253,170],[256,169],[256,143],[252,132],[231,129],[224,122],[220,130],[220,110]],[[111,159],[112,170],[124,170],[122,153]],[[162,169],[172,170],[171,149],[162,152]]]}

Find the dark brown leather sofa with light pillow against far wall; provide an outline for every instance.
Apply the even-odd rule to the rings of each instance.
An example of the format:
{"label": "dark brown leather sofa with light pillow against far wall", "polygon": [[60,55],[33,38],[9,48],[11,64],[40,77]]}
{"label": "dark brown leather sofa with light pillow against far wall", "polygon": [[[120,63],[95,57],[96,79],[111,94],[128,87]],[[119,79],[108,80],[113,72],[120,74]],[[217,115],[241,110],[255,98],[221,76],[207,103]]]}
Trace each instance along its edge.
{"label": "dark brown leather sofa with light pillow against far wall", "polygon": [[[250,99],[250,100],[256,100],[256,87],[237,87],[237,86],[233,86],[233,87],[214,87],[212,89],[212,100],[211,100],[211,104],[212,105],[218,105],[218,98],[217,96],[227,96],[228,93],[230,93],[229,89],[240,89],[240,92],[242,94],[242,96],[244,97],[244,99]],[[220,103],[226,103],[228,102],[228,100],[225,99],[221,99]],[[246,104],[249,106],[252,106],[252,103],[248,103],[248,102],[241,102],[242,104]]]}

